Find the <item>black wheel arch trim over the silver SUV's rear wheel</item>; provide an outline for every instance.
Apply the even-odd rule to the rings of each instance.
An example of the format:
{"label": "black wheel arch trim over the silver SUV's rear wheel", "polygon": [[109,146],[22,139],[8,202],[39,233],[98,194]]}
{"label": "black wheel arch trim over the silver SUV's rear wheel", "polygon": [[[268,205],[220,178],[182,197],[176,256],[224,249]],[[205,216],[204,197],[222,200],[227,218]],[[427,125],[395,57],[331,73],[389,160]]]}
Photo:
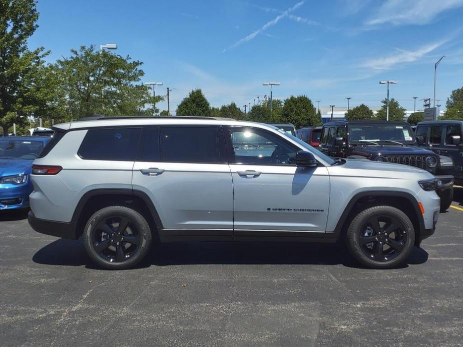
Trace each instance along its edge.
{"label": "black wheel arch trim over the silver SUV's rear wheel", "polygon": [[130,188],[98,188],[87,191],[84,195],[82,195],[81,199],[77,203],[76,209],[74,210],[73,217],[71,220],[77,222],[88,200],[91,197],[98,195],[133,195],[140,197],[150,210],[155,226],[157,228],[163,227],[158,211],[148,194],[144,191]]}

